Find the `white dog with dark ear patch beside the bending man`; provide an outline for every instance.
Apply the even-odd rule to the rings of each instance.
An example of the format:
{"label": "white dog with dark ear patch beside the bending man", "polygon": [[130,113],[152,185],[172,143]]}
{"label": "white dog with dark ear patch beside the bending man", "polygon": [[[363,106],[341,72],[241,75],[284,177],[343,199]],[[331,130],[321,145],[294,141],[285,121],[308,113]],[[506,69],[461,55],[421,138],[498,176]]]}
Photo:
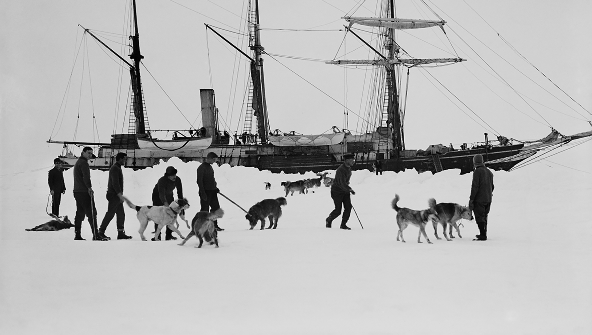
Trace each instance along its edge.
{"label": "white dog with dark ear patch beside the bending man", "polygon": [[[154,233],[155,240],[158,238],[158,235],[160,235],[160,230],[162,230],[165,226],[169,226],[170,230],[177,233],[179,237],[184,239],[183,235],[181,235],[181,232],[179,232],[179,229],[175,227],[175,223],[179,213],[182,213],[184,209],[189,208],[187,199],[177,199],[170,203],[169,206],[136,206],[126,197],[123,197],[123,199],[126,201],[127,206],[130,206],[137,212],[136,217],[140,222],[140,230],[138,230],[138,232],[140,233],[140,238],[143,241],[146,240],[144,237],[144,230],[146,230],[149,221],[153,221],[158,225]],[[185,216],[182,216],[181,219],[185,220]]]}

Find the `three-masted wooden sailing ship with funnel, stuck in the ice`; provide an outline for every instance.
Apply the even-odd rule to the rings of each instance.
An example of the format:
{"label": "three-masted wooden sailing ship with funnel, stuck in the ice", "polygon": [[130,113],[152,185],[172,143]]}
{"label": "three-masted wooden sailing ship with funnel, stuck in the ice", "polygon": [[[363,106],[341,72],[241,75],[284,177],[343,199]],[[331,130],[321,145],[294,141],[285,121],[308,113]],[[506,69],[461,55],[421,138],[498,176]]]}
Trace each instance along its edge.
{"label": "three-masted wooden sailing ship with funnel, stuck in the ice", "polygon": [[[442,19],[406,19],[394,15],[394,4],[385,2],[381,17],[343,17],[348,23],[348,34],[358,38],[369,50],[374,51],[375,58],[366,60],[331,60],[329,64],[340,66],[370,66],[381,74],[382,89],[377,90],[376,101],[383,102],[377,126],[372,132],[352,134],[346,129],[333,127],[327,134],[303,135],[271,131],[265,96],[265,80],[263,77],[263,56],[265,49],[260,40],[259,1],[249,2],[247,12],[249,22],[250,53],[240,50],[229,40],[219,34],[214,27],[206,24],[207,30],[232,45],[237,51],[250,61],[250,88],[246,116],[244,117],[244,132],[232,138],[229,132],[220,129],[218,109],[215,105],[213,89],[201,89],[202,127],[200,129],[185,129],[175,131],[173,139],[157,139],[149,129],[147,115],[144,109],[143,92],[140,81],[140,53],[138,24],[136,16],[136,2],[133,1],[134,34],[130,58],[128,62],[119,56],[106,44],[102,43],[90,30],[85,32],[100,41],[115,56],[120,58],[129,68],[131,76],[131,109],[130,127],[128,134],[111,135],[110,143],[53,141],[65,147],[66,152],[60,156],[66,167],[76,161],[75,155],[68,149],[68,145],[91,145],[96,158],[91,160],[91,168],[108,169],[114,162],[117,152],[123,151],[128,155],[128,167],[146,168],[158,164],[160,160],[179,157],[184,161],[202,160],[208,152],[216,152],[220,157],[220,164],[232,166],[242,165],[269,170],[273,173],[305,173],[307,171],[321,172],[334,170],[342,164],[343,155],[355,154],[358,162],[354,170],[372,169],[375,161],[382,162],[385,171],[404,171],[415,169],[418,172],[459,169],[462,173],[472,171],[472,157],[482,154],[485,164],[494,170],[509,171],[519,162],[535,155],[540,149],[563,145],[575,138],[591,136],[592,132],[582,132],[572,136],[563,136],[553,131],[546,138],[531,143],[513,143],[511,139],[497,135],[496,139],[488,139],[485,134],[484,142],[472,142],[472,145],[461,145],[460,148],[433,145],[426,150],[407,149],[404,141],[404,113],[400,106],[400,89],[397,76],[400,68],[407,70],[427,64],[452,64],[465,61],[462,58],[406,58],[401,56],[401,47],[395,38],[395,31],[420,28],[440,28],[443,31],[446,21]],[[379,35],[373,46],[356,34],[356,27],[372,27]],[[254,134],[250,127],[256,125]]]}

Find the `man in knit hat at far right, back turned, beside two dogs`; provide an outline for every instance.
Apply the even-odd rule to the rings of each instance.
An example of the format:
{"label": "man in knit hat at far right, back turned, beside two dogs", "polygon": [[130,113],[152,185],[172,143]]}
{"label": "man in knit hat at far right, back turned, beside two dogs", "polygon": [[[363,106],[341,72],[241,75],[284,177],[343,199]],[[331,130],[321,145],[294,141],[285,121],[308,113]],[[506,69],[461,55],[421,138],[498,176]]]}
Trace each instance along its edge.
{"label": "man in knit hat at far right, back turned, beside two dogs", "polygon": [[473,240],[484,241],[487,240],[487,214],[489,214],[493,196],[493,173],[485,167],[481,154],[473,157],[473,166],[475,171],[473,171],[469,210],[475,214],[475,222],[479,227],[479,235],[476,235]]}

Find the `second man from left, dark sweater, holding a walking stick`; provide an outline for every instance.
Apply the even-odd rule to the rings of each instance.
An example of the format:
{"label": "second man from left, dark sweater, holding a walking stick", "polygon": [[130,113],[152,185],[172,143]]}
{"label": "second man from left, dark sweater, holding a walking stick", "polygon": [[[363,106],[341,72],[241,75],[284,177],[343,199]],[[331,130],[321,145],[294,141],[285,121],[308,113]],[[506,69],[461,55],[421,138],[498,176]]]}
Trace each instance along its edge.
{"label": "second man from left, dark sweater, holding a walking stick", "polygon": [[82,220],[88,217],[88,223],[91,224],[92,240],[104,241],[107,240],[99,235],[96,228],[96,207],[95,207],[95,192],[92,190],[91,183],[91,168],[88,165],[88,160],[92,157],[92,148],[84,147],[82,149],[81,157],[74,164],[74,199],[76,199],[76,216],[74,217],[74,233],[75,240],[85,240],[81,236]]}

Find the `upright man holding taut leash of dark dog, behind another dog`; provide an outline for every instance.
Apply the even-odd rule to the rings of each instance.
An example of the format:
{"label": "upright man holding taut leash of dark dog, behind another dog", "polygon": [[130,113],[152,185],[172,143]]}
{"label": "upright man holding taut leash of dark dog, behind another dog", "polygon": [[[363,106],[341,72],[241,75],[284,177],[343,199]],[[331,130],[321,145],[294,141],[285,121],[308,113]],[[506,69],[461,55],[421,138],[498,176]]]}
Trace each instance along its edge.
{"label": "upright man holding taut leash of dark dog, behind another dog", "polygon": [[[218,203],[218,186],[214,178],[214,168],[212,164],[216,162],[218,155],[215,152],[208,153],[205,161],[197,168],[197,186],[200,188],[200,204],[201,211],[215,212],[220,208]],[[214,221],[216,230],[220,232],[224,230],[218,226],[218,220]]]}

